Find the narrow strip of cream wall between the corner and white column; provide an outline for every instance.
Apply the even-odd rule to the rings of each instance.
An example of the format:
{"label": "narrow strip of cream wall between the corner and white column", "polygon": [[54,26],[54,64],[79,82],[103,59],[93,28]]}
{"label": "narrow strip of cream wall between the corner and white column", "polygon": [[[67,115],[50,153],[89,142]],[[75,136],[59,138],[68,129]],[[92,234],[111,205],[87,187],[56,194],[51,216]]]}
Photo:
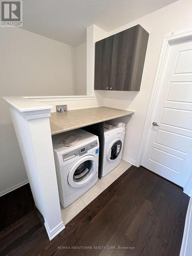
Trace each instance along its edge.
{"label": "narrow strip of cream wall between the corner and white column", "polygon": [[76,94],[87,94],[87,44],[75,47],[75,87]]}

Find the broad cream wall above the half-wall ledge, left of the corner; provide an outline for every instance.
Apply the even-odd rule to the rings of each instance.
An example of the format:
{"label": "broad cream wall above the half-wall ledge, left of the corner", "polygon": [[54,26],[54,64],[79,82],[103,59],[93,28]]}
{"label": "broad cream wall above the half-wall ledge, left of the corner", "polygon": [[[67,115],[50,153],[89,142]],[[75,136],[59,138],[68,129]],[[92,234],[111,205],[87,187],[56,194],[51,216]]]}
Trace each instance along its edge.
{"label": "broad cream wall above the half-wall ledge, left of the corner", "polygon": [[2,90],[16,95],[75,93],[74,47],[18,28],[0,28],[0,36]]}

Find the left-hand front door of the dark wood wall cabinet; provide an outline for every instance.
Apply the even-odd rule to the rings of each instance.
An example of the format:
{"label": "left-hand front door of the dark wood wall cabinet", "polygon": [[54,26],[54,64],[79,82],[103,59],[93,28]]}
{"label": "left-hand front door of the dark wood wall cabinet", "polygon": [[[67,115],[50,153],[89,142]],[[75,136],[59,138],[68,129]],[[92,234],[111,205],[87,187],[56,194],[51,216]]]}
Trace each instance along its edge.
{"label": "left-hand front door of the dark wood wall cabinet", "polygon": [[109,90],[113,53],[113,36],[95,44],[95,90]]}

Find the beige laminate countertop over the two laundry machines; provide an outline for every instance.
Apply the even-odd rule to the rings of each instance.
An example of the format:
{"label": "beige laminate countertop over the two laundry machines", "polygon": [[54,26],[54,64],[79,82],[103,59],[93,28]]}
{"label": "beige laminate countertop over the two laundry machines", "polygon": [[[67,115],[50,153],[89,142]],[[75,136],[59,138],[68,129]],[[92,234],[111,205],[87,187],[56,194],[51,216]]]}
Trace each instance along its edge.
{"label": "beige laminate countertop over the two laundry machines", "polygon": [[51,113],[50,116],[51,134],[59,134],[90,124],[132,114],[134,114],[133,111],[106,108],[105,106],[91,109],[70,110],[63,113],[54,112]]}

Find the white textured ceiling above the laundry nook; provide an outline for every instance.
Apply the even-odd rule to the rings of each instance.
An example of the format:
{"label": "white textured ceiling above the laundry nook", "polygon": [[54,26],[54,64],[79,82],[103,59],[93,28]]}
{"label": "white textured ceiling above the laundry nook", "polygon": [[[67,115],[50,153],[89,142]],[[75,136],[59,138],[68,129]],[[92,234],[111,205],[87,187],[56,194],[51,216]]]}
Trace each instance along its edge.
{"label": "white textured ceiling above the laundry nook", "polygon": [[176,0],[23,0],[23,29],[68,45],[95,24],[111,31]]}

